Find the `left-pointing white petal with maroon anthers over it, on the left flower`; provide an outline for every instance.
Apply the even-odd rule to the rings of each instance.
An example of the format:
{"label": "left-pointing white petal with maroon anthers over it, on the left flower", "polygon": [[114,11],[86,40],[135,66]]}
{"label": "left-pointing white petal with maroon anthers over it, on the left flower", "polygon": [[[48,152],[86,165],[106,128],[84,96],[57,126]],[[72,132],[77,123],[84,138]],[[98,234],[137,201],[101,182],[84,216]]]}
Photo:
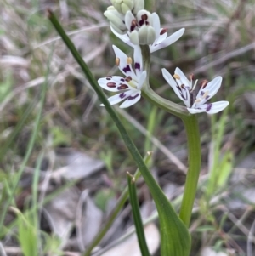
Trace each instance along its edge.
{"label": "left-pointing white petal with maroon anthers over it, on the left flower", "polygon": [[[120,92],[131,88],[123,77],[118,76],[99,78],[98,83],[101,88],[110,92]],[[125,84],[127,88],[120,88],[121,84]]]}

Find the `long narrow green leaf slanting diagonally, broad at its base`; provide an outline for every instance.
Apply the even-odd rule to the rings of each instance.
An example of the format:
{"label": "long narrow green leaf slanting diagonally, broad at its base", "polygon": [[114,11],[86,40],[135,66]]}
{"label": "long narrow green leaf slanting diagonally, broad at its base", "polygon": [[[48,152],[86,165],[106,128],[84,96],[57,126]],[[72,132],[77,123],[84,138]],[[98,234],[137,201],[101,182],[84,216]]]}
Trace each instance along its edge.
{"label": "long narrow green leaf slanting diagonally, broad at its base", "polygon": [[48,10],[48,18],[52,22],[56,31],[59,32],[59,36],[62,37],[66,46],[71,51],[73,57],[77,60],[77,63],[81,66],[82,71],[88,78],[88,82],[92,85],[95,92],[99,96],[99,100],[105,105],[105,109],[110,114],[112,120],[116,123],[116,127],[119,129],[122,139],[124,140],[128,151],[133,160],[136,162],[141,174],[144,177],[145,183],[150,189],[151,196],[156,203],[158,210],[158,216],[161,226],[161,255],[173,255],[173,256],[188,256],[190,253],[190,233],[184,223],[178,218],[172,205],[168,202],[167,196],[161,191],[160,186],[156,183],[156,180],[150,174],[149,169],[145,165],[142,156],[139,154],[138,149],[133,144],[127,134],[126,128],[122,125],[122,122],[117,117],[116,112],[112,109],[111,103],[105,98],[105,94],[99,88],[97,82],[94,79],[91,71],[88,69],[88,65],[82,59],[82,56],[78,53],[77,48],[71,43],[70,38],[66,35],[63,27],[59,24],[59,20],[55,17],[51,10]]}

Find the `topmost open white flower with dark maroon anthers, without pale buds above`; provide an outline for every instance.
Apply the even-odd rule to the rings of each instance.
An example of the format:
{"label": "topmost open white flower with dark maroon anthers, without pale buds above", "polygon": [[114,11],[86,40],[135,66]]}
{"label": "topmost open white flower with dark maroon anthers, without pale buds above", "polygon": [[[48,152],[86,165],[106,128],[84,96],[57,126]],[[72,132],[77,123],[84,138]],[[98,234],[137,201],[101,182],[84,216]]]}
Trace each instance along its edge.
{"label": "topmost open white flower with dark maroon anthers, without pale buds above", "polygon": [[[183,34],[184,28],[174,32],[167,37],[167,30],[161,28],[161,23],[158,14],[146,10],[139,10],[136,17],[131,11],[127,11],[125,19],[119,22],[119,28],[111,25],[111,31],[119,37],[124,43],[134,47],[134,45],[148,44],[150,53],[153,53],[161,48],[165,48],[176,42]],[[127,31],[123,27],[127,27]]]}

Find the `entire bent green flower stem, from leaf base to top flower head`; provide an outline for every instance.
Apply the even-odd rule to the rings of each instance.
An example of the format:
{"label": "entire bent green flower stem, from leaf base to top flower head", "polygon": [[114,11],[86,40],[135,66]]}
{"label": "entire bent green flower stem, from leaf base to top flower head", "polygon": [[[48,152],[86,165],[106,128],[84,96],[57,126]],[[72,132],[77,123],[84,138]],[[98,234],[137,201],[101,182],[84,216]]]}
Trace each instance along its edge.
{"label": "entire bent green flower stem, from leaf base to top flower head", "polygon": [[201,168],[201,143],[198,128],[198,122],[195,115],[190,115],[186,107],[175,104],[169,100],[161,98],[151,88],[149,83],[150,72],[150,48],[146,45],[141,46],[144,69],[147,71],[147,80],[144,84],[142,95],[153,105],[179,117],[184,122],[184,127],[188,140],[189,169],[186,176],[184,187],[184,196],[180,208],[179,217],[183,220],[184,225],[189,227],[193,204],[195,201],[195,192]]}

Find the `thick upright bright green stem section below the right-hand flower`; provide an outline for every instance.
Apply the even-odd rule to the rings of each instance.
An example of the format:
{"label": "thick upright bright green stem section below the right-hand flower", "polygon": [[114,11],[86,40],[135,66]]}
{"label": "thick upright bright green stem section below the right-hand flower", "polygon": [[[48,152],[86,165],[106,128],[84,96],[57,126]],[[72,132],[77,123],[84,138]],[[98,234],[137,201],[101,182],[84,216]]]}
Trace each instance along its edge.
{"label": "thick upright bright green stem section below the right-hand flower", "polygon": [[195,201],[196,187],[201,169],[201,143],[197,118],[190,115],[183,119],[188,139],[189,169],[184,186],[184,196],[179,217],[189,227],[192,208]]}

